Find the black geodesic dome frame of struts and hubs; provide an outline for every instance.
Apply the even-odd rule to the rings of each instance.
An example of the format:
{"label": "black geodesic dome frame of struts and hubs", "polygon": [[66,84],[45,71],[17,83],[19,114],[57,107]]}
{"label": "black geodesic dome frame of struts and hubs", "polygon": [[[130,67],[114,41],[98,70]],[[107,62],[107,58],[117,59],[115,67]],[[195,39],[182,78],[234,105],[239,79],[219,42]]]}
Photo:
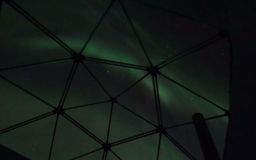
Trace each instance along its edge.
{"label": "black geodesic dome frame of struts and hubs", "polygon": [[[180,58],[183,58],[183,57],[185,57],[185,56],[187,56],[189,54],[192,54],[192,53],[194,53],[194,52],[196,52],[196,51],[198,51],[198,50],[200,50],[200,49],[202,49],[202,48],[204,48],[206,46],[209,46],[210,44],[212,44],[212,43],[214,43],[214,42],[216,42],[218,40],[222,40],[224,38],[228,38],[228,36],[226,34],[218,33],[217,35],[215,35],[215,36],[205,40],[204,42],[201,42],[200,44],[198,44],[198,45],[196,45],[196,46],[194,46],[192,48],[184,50],[184,52],[181,52],[180,54],[178,54],[178,55],[176,55],[176,56],[174,56],[172,58],[169,58],[168,60],[166,60],[166,61],[164,61],[162,63],[159,63],[158,65],[154,66],[152,64],[152,62],[151,62],[147,52],[146,52],[146,49],[144,48],[144,45],[143,45],[142,41],[140,40],[140,36],[138,35],[137,30],[134,27],[134,24],[133,24],[132,20],[130,19],[130,16],[129,16],[128,12],[126,11],[126,7],[122,3],[122,0],[118,0],[118,1],[112,0],[111,1],[111,3],[109,4],[108,8],[106,9],[104,14],[100,18],[100,21],[95,26],[93,32],[90,34],[88,40],[86,41],[86,43],[84,44],[84,46],[83,46],[83,48],[82,48],[82,50],[80,52],[75,52],[65,42],[63,42],[60,38],[58,38],[50,30],[48,30],[43,24],[38,22],[38,20],[36,20],[33,16],[31,16],[28,12],[26,12],[26,10],[24,10],[21,6],[19,6],[13,0],[3,0],[3,1],[6,2],[6,4],[10,5],[14,10],[16,10],[22,16],[24,16],[24,18],[26,18],[28,21],[30,21],[32,24],[34,24],[37,28],[39,28],[42,32],[44,32],[47,36],[49,36],[52,40],[54,40],[56,43],[58,43],[62,48],[64,48],[66,51],[68,51],[72,55],[70,58],[62,58],[62,59],[51,60],[51,61],[47,61],[47,62],[25,64],[25,65],[21,65],[21,66],[14,66],[14,67],[8,67],[8,68],[0,69],[0,71],[4,71],[4,70],[15,69],[15,68],[23,68],[23,67],[28,67],[28,66],[37,66],[37,65],[42,65],[42,64],[56,63],[56,62],[62,62],[62,61],[68,61],[68,60],[72,60],[73,61],[73,64],[72,64],[71,70],[69,72],[68,79],[66,80],[66,85],[65,85],[64,90],[62,92],[62,96],[60,98],[58,106],[53,106],[52,104],[46,102],[42,98],[40,98],[40,97],[36,96],[35,94],[31,93],[30,91],[26,90],[22,86],[19,86],[18,84],[12,82],[8,78],[0,75],[0,77],[2,79],[4,79],[7,82],[13,84],[14,86],[18,87],[20,90],[23,90],[27,94],[30,94],[34,98],[38,99],[39,101],[43,102],[44,104],[46,104],[50,108],[52,108],[51,112],[47,112],[45,114],[36,116],[34,118],[25,120],[23,122],[20,122],[18,124],[12,125],[10,127],[3,128],[3,129],[0,130],[0,133],[4,134],[4,133],[9,132],[11,130],[14,130],[16,128],[20,128],[22,126],[30,124],[32,122],[36,122],[38,120],[42,120],[42,119],[44,119],[44,118],[46,118],[48,116],[56,115],[56,121],[55,121],[55,125],[54,125],[52,142],[51,142],[51,145],[50,145],[50,151],[49,151],[49,157],[48,157],[49,160],[51,158],[52,148],[54,146],[55,133],[56,133],[56,129],[57,129],[57,126],[58,126],[58,119],[59,119],[60,116],[63,116],[64,118],[66,118],[68,121],[70,121],[77,128],[82,130],[85,134],[90,136],[93,140],[95,140],[96,142],[98,142],[102,146],[102,147],[100,147],[100,148],[98,148],[96,150],[92,150],[92,151],[89,151],[89,152],[87,152],[85,154],[78,155],[77,157],[72,158],[72,160],[81,158],[81,157],[86,156],[88,154],[92,154],[92,153],[94,153],[96,151],[99,151],[99,150],[103,150],[103,158],[102,159],[104,159],[104,160],[107,159],[107,155],[108,155],[109,152],[111,152],[112,154],[114,154],[114,156],[116,156],[116,158],[121,160],[121,158],[120,158],[121,156],[117,155],[111,149],[113,146],[117,146],[117,145],[120,145],[120,144],[123,144],[123,143],[126,143],[126,142],[130,142],[132,140],[137,140],[139,138],[150,136],[152,134],[159,134],[158,149],[157,149],[157,155],[156,155],[156,159],[157,160],[158,160],[159,154],[160,154],[160,144],[161,144],[162,136],[166,136],[166,138],[168,138],[189,159],[195,160],[196,158],[194,158],[194,156],[192,156],[192,154],[190,154],[182,145],[180,145],[177,142],[177,140],[175,140],[169,133],[166,132],[167,129],[175,128],[175,127],[178,127],[178,126],[184,126],[184,125],[187,125],[187,124],[193,124],[194,122],[187,122],[187,123],[182,123],[182,124],[178,124],[178,125],[174,125],[174,126],[163,126],[161,103],[160,103],[160,95],[159,95],[159,87],[158,87],[158,76],[162,76],[162,77],[170,80],[174,84],[176,84],[176,85],[180,86],[181,88],[187,90],[188,92],[198,96],[202,100],[205,100],[206,102],[212,104],[213,106],[215,106],[216,108],[218,108],[218,109],[220,109],[220,110],[222,110],[224,112],[221,115],[205,118],[204,120],[211,120],[211,119],[215,119],[215,118],[220,118],[220,117],[228,116],[228,110],[222,108],[221,106],[219,106],[218,104],[212,102],[211,100],[208,100],[207,98],[205,98],[204,96],[198,94],[197,92],[194,92],[193,90],[189,89],[188,87],[180,84],[179,82],[175,81],[174,79],[170,78],[169,76],[166,76],[165,74],[161,73],[161,68],[167,66],[168,64],[171,64],[171,63],[179,60]],[[141,46],[142,50],[144,51],[144,56],[148,60],[148,64],[149,64],[148,66],[142,66],[142,65],[137,65],[137,64],[129,64],[129,63],[124,63],[124,62],[117,62],[117,61],[113,61],[113,60],[105,60],[105,59],[93,58],[93,57],[83,56],[82,55],[83,50],[90,43],[90,40],[91,40],[92,36],[95,34],[97,28],[100,26],[102,20],[104,19],[104,17],[106,16],[106,14],[108,13],[108,11],[110,10],[110,8],[112,7],[112,5],[114,3],[120,3],[120,6],[122,7],[122,9],[123,9],[123,11],[124,11],[124,13],[126,15],[126,18],[127,18],[128,22],[130,23],[130,26],[132,27],[132,29],[133,29],[133,31],[134,31],[134,33],[136,35],[136,38],[138,39],[138,41],[140,43],[140,46]],[[154,7],[154,6],[151,6],[151,7]],[[155,8],[157,8],[157,7],[155,7]],[[161,8],[158,8],[158,9],[161,9]],[[178,15],[178,16],[183,16],[183,15]],[[185,18],[188,18],[188,17],[185,17]],[[125,68],[132,68],[134,70],[143,70],[143,71],[146,72],[146,74],[144,76],[142,76],[140,79],[138,79],[134,84],[132,84],[131,86],[126,88],[126,90],[124,90],[123,92],[118,94],[117,96],[112,96],[106,90],[106,88],[101,84],[100,80],[94,75],[94,73],[86,66],[86,63],[85,63],[86,61],[102,63],[102,64],[106,64],[106,65],[120,66],[120,67],[125,67]],[[63,108],[64,102],[65,102],[66,97],[68,95],[68,92],[69,92],[70,86],[72,84],[72,80],[74,78],[76,70],[78,68],[78,65],[82,65],[84,68],[86,68],[86,70],[90,73],[90,76],[92,76],[92,78],[94,78],[94,80],[98,83],[98,85],[102,88],[102,90],[104,90],[104,92],[106,92],[106,94],[109,97],[109,100],[102,101],[102,102],[91,103],[91,104],[85,104],[85,105],[82,105],[82,106]],[[130,90],[133,86],[138,84],[141,80],[143,80],[147,76],[152,76],[153,90],[154,90],[154,100],[155,100],[155,107],[156,107],[156,111],[157,111],[156,115],[157,115],[157,120],[158,120],[158,124],[157,125],[153,124],[152,122],[150,122],[149,120],[147,120],[146,118],[141,116],[140,114],[137,114],[136,112],[130,110],[129,108],[127,108],[126,106],[124,106],[124,105],[122,105],[122,104],[120,104],[118,102],[118,98],[120,96],[122,96],[125,92]],[[75,108],[81,108],[81,107],[85,107],[85,106],[91,106],[91,105],[102,104],[102,103],[107,103],[107,102],[111,104],[111,109],[110,109],[110,117],[109,117],[109,122],[108,122],[108,132],[106,133],[107,134],[106,141],[105,140],[101,140],[100,138],[98,138],[98,136],[96,136],[94,133],[92,133],[90,130],[88,130],[88,128],[86,128],[86,126],[83,126],[77,120],[75,120],[75,118],[73,118],[72,116],[70,116],[69,114],[66,113],[66,110],[72,110],[72,109],[75,109]],[[118,140],[118,141],[115,141],[115,142],[109,142],[110,126],[111,126],[112,112],[114,110],[114,108],[113,108],[114,105],[121,106],[122,108],[126,109],[127,112],[131,112],[132,114],[138,116],[139,118],[141,118],[142,120],[144,120],[148,124],[154,126],[155,129],[154,130],[149,130],[147,132],[143,132],[141,134],[134,135],[134,136],[131,136],[131,137],[128,137],[128,138],[124,138],[124,139],[121,139],[121,140]]]}

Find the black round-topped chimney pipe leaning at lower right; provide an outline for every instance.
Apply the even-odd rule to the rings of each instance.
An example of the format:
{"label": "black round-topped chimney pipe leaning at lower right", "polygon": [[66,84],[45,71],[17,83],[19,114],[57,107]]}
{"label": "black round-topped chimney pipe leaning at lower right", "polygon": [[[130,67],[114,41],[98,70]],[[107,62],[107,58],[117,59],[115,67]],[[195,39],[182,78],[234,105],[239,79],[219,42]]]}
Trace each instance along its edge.
{"label": "black round-topped chimney pipe leaning at lower right", "polygon": [[220,156],[216,149],[216,146],[212,140],[210,131],[204,120],[204,116],[201,113],[195,113],[192,116],[194,126],[196,128],[196,134],[198,136],[202,152],[205,160],[220,160]]}

